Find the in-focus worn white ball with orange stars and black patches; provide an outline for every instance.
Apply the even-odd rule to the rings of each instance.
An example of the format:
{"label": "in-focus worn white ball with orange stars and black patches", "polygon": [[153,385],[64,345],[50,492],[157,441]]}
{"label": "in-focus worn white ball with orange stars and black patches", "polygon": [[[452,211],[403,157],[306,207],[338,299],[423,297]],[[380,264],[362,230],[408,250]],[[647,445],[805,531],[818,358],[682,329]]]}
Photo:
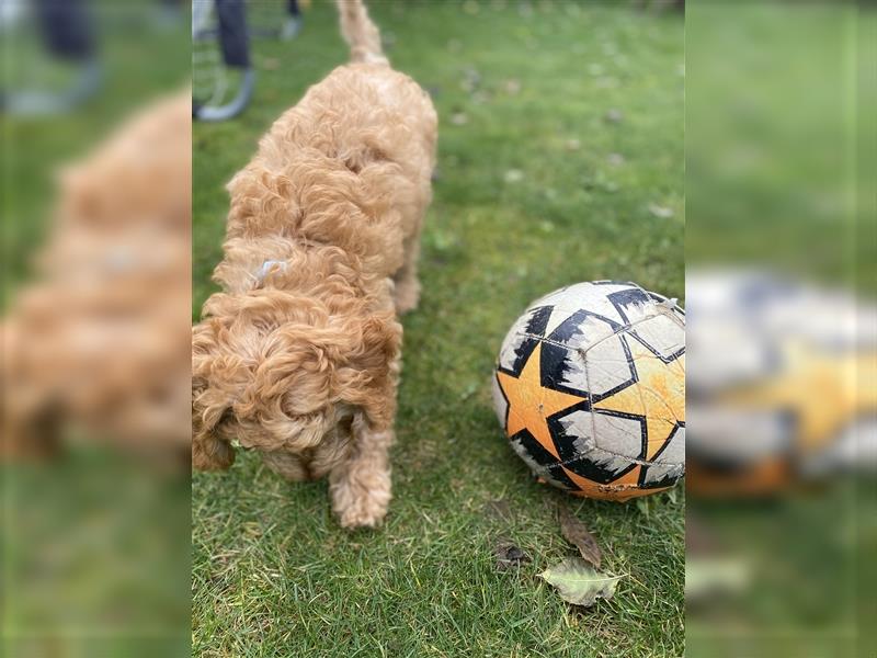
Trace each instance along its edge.
{"label": "in-focus worn white ball with orange stars and black patches", "polygon": [[685,474],[685,314],[634,283],[556,291],[505,337],[493,401],[540,480],[605,500],[668,489]]}

